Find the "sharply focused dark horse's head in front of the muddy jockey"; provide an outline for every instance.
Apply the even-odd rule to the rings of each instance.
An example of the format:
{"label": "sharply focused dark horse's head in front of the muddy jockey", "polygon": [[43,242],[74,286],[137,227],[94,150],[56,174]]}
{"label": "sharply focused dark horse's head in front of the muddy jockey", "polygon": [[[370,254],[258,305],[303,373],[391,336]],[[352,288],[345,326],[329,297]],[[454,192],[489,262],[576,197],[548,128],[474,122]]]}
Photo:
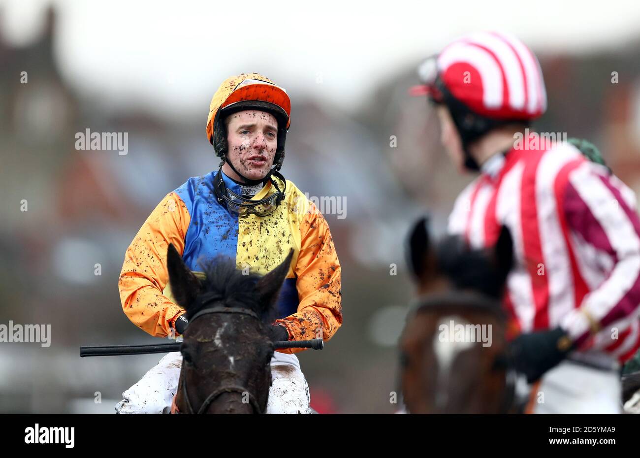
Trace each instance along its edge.
{"label": "sharply focused dark horse's head in front of the muddy jockey", "polygon": [[200,281],[169,246],[173,296],[189,320],[175,398],[179,413],[265,413],[274,352],[268,326],[292,254],[264,277],[243,275],[231,259],[214,259]]}

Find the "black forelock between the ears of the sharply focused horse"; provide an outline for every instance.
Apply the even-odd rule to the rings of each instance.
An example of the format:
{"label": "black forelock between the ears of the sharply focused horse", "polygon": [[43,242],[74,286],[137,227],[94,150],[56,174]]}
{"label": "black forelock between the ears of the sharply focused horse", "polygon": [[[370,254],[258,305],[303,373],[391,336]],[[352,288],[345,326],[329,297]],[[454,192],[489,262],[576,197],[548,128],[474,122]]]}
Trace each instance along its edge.
{"label": "black forelock between the ears of the sharply focused horse", "polygon": [[205,278],[200,279],[200,294],[193,306],[189,307],[187,319],[212,307],[249,309],[267,319],[264,316],[264,304],[260,303],[260,295],[255,288],[262,275],[244,275],[233,259],[221,255],[201,262],[200,267]]}

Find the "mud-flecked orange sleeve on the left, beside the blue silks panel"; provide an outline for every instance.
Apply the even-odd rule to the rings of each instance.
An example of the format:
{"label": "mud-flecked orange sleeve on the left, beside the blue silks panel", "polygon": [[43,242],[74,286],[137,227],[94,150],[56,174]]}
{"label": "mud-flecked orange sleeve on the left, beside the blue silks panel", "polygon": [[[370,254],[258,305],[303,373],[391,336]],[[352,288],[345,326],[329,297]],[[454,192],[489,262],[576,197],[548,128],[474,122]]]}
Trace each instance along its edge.
{"label": "mud-flecked orange sleeve on the left, beside the blue silks panel", "polygon": [[175,193],[168,193],[142,225],[125,254],[118,280],[120,301],[132,323],[152,336],[165,337],[184,313],[163,295],[169,281],[166,252],[173,243],[180,254],[191,216]]}

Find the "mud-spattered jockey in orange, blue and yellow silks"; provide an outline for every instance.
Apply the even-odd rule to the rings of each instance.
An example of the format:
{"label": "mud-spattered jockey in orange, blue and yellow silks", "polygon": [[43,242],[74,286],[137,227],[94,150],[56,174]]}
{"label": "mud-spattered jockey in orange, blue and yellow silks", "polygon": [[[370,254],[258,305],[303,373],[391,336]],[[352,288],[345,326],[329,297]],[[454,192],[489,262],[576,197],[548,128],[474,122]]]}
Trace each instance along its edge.
{"label": "mud-spattered jockey in orange, blue and yellow silks", "polygon": [[[125,254],[118,287],[122,309],[135,325],[158,337],[184,332],[185,311],[168,289],[166,253],[173,243],[194,272],[201,270],[199,260],[223,255],[240,269],[264,275],[293,249],[278,319],[271,325],[273,340],[327,340],[340,327],[340,263],[328,224],[278,172],[290,113],[285,90],[264,76],[241,74],[220,85],[207,119],[220,169],[168,193]],[[267,413],[310,412],[307,381],[294,355],[302,350],[275,352]],[[163,357],[123,393],[116,411],[166,413],[181,364],[180,352]]]}

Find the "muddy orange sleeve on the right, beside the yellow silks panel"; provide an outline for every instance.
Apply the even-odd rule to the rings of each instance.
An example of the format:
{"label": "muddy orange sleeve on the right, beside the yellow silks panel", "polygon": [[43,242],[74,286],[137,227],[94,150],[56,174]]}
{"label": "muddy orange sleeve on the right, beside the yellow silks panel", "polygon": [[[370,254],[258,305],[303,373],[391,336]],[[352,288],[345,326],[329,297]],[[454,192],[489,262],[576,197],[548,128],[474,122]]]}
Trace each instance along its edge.
{"label": "muddy orange sleeve on the right, beside the yellow silks panel", "polygon": [[[298,311],[280,320],[290,340],[332,338],[342,325],[340,261],[322,213],[313,202],[300,224],[301,247],[295,272],[300,304]],[[305,348],[286,348],[283,353],[297,353]]]}

